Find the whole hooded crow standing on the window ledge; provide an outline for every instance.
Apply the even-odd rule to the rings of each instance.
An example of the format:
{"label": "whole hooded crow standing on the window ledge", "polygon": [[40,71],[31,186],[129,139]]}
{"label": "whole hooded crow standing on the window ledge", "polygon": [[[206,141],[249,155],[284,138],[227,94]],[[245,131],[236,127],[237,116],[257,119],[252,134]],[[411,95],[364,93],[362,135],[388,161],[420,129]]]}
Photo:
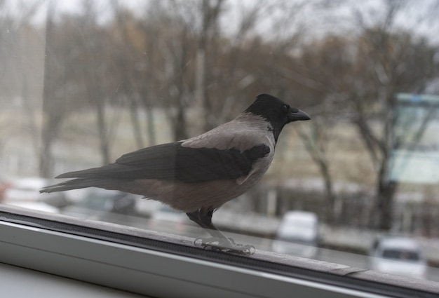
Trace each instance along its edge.
{"label": "whole hooded crow standing on the window ledge", "polygon": [[283,100],[262,94],[234,120],[179,142],[159,144],[124,154],[100,168],[66,172],[74,178],[41,192],[100,187],[140,194],[186,212],[212,235],[204,248],[252,253],[213,224],[212,214],[253,187],[268,170],[285,124],[309,116]]}

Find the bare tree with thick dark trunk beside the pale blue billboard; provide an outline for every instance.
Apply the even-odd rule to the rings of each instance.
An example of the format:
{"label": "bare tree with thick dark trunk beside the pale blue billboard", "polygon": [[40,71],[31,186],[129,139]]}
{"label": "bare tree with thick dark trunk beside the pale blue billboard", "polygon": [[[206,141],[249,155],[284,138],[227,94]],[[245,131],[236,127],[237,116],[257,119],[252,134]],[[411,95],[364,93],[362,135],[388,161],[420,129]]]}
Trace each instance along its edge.
{"label": "bare tree with thick dark trunk beside the pale blue billboard", "polygon": [[[410,32],[398,32],[394,22],[404,1],[386,1],[383,18],[374,27],[360,20],[356,65],[349,97],[352,121],[377,171],[374,226],[391,229],[393,197],[398,182],[389,180],[389,165],[396,123],[396,93],[419,93],[435,75],[435,50]],[[360,13],[357,14],[360,16]],[[381,123],[381,129],[374,123]]]}

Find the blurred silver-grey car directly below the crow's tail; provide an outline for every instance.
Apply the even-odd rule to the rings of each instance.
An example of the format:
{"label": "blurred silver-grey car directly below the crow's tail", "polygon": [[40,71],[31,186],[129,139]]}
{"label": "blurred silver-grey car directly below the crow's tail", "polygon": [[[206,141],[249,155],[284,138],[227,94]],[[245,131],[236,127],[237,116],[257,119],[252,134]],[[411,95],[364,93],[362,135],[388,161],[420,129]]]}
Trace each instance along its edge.
{"label": "blurred silver-grey car directly below the crow's tail", "polygon": [[102,219],[109,213],[119,215],[136,215],[136,196],[123,191],[109,191],[104,189],[88,189],[83,197],[73,205],[62,208],[65,215]]}

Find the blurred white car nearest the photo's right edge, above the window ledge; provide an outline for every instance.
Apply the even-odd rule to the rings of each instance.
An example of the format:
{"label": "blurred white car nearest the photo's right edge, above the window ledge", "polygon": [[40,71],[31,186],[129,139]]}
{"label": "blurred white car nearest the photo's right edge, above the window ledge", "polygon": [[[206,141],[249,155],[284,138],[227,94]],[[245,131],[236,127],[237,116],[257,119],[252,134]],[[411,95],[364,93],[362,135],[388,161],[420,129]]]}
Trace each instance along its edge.
{"label": "blurred white car nearest the photo's right edge, above the window ledge", "polygon": [[400,236],[383,236],[369,253],[370,269],[400,276],[426,278],[426,259],[416,241]]}

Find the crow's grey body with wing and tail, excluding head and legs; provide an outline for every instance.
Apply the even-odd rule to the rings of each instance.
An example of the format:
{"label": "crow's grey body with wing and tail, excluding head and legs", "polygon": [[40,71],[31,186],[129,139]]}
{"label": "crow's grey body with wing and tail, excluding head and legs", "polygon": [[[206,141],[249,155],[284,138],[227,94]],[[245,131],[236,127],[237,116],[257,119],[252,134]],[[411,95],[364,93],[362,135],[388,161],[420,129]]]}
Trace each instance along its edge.
{"label": "crow's grey body with wing and tail, excluding head and legs", "polygon": [[[198,137],[158,145],[154,150],[141,149],[121,156],[116,163],[101,168],[59,175],[58,178],[76,179],[48,187],[44,191],[101,187],[140,194],[183,212],[200,208],[217,209],[244,194],[262,178],[273,160],[274,146],[273,133],[269,132],[263,118],[241,114],[233,121]],[[179,157],[176,153],[179,149],[189,151]],[[201,161],[195,162],[199,163],[196,169],[175,168],[177,163],[186,163],[191,158],[198,159],[198,149],[213,151],[206,151],[205,156],[198,157]],[[227,159],[222,156],[222,151],[234,151],[234,157],[228,153],[225,155],[229,157]],[[225,162],[239,160],[246,152],[254,154],[247,158],[248,163],[238,169],[224,170]],[[193,165],[194,161],[189,164]],[[191,175],[191,172],[196,174]]]}

